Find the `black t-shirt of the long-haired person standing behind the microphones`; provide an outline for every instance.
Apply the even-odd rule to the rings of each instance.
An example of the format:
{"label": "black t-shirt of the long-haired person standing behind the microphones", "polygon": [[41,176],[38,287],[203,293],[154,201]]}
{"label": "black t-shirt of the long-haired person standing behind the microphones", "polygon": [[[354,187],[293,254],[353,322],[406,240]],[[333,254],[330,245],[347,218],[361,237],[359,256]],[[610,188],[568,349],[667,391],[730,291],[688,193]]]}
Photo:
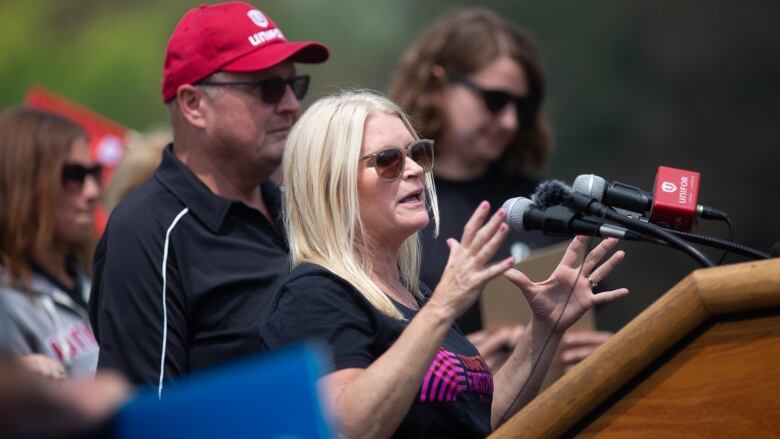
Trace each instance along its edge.
{"label": "black t-shirt of the long-haired person standing behind the microphones", "polygon": [[[439,200],[439,237],[433,238],[433,222],[420,235],[423,246],[420,277],[431,287],[439,283],[444,267],[447,265],[450,254],[447,238],[460,240],[463,227],[480,202],[487,200],[492,214],[510,198],[530,197],[538,184],[536,179],[525,176],[500,177],[496,169],[491,169],[476,180],[451,181],[435,177],[434,181]],[[534,250],[560,241],[561,237],[545,236],[537,231],[510,233],[493,260],[511,256],[513,250],[514,252]],[[466,334],[482,329],[482,311],[479,302],[458,319],[458,326]]]}

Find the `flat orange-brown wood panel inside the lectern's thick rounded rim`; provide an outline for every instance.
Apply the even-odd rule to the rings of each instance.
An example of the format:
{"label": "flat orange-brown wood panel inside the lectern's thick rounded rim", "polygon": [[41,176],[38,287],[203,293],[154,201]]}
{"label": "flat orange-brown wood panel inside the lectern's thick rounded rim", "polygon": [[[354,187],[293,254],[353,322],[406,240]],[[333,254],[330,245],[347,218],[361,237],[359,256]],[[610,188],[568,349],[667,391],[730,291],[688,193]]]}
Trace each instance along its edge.
{"label": "flat orange-brown wood panel inside the lectern's thick rounded rim", "polygon": [[779,368],[780,316],[715,323],[578,437],[780,436]]}

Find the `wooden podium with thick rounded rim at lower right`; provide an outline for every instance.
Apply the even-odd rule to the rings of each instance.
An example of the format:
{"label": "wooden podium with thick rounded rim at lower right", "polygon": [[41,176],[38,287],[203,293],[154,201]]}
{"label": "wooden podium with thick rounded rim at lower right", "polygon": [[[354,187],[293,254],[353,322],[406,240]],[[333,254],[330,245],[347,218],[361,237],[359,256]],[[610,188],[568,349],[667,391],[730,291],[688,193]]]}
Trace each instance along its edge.
{"label": "wooden podium with thick rounded rim at lower right", "polygon": [[780,259],[696,270],[491,438],[780,437]]}

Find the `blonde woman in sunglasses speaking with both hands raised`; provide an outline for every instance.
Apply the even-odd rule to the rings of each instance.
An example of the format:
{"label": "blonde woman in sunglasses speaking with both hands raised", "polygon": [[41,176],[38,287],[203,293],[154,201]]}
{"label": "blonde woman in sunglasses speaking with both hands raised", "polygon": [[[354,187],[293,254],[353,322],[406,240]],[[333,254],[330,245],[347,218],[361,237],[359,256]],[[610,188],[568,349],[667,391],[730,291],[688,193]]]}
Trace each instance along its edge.
{"label": "blonde woman in sunglasses speaking with both hands raised", "polygon": [[[268,349],[307,341],[328,349],[323,400],[342,437],[487,436],[539,390],[565,329],[591,305],[628,292],[595,295],[586,279],[601,280],[620,262],[622,252],[596,267],[617,240],[580,265],[586,238],[576,238],[540,283],[512,269],[511,257],[490,262],[508,226],[506,211],[491,215],[484,201],[459,239],[445,236],[447,268],[429,289],[420,281],[419,237],[439,219],[432,146],[397,105],[368,92],[315,102],[288,139],[283,199],[293,269],[260,336]],[[493,373],[454,323],[502,274],[534,314]],[[529,355],[537,352],[545,354]]]}

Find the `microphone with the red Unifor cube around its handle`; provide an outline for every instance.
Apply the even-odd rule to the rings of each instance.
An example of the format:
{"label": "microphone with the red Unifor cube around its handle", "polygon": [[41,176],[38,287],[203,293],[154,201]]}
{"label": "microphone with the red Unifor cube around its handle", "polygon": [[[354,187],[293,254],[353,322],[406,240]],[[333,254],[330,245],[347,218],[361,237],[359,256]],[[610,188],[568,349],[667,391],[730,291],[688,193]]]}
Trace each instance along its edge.
{"label": "microphone with the red Unifor cube around its handle", "polygon": [[593,174],[578,176],[573,189],[615,208],[640,215],[649,213],[651,222],[687,232],[696,216],[717,220],[728,217],[718,209],[696,203],[699,181],[698,172],[659,166],[654,193],[617,181],[608,183]]}

